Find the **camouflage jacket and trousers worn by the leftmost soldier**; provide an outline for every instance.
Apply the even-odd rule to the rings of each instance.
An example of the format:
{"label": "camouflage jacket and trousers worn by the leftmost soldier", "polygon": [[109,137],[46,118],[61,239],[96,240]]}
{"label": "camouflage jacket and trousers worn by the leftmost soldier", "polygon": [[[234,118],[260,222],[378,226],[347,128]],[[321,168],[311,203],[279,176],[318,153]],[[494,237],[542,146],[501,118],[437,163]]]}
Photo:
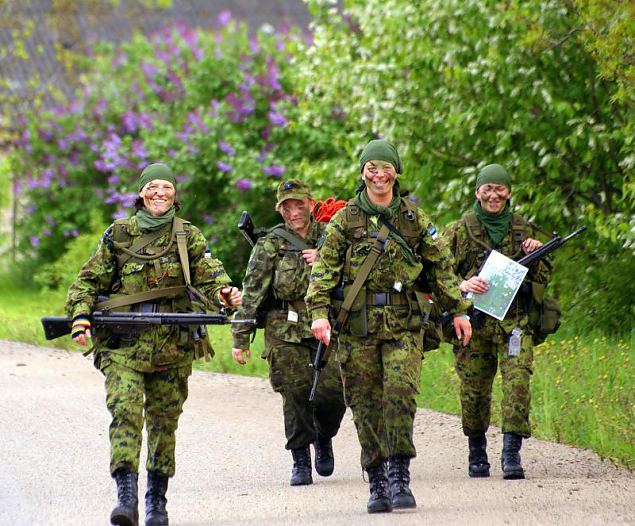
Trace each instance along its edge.
{"label": "camouflage jacket and trousers worn by the leftmost soldier", "polygon": [[[161,258],[149,262],[132,258],[119,269],[113,246],[114,228],[123,228],[131,245],[144,234],[135,216],[118,220],[105,232],[97,250],[68,291],[66,311],[70,318],[88,316],[100,295],[117,297],[184,285],[176,243]],[[171,237],[168,229],[147,245],[143,253],[161,252],[169,245]],[[214,297],[221,287],[230,283],[230,279],[220,261],[206,257],[206,247],[201,232],[189,225],[187,252],[192,285],[206,297]],[[160,312],[198,310],[193,308],[185,293],[157,299],[154,304]],[[175,470],[175,431],[187,399],[187,381],[192,372],[193,342],[189,330],[157,326],[118,341],[109,339],[104,331],[94,331],[93,340],[95,365],[106,377],[106,405],[112,415],[111,473],[121,467],[138,471],[145,412],[148,432],[146,467],[148,471],[171,477]]]}

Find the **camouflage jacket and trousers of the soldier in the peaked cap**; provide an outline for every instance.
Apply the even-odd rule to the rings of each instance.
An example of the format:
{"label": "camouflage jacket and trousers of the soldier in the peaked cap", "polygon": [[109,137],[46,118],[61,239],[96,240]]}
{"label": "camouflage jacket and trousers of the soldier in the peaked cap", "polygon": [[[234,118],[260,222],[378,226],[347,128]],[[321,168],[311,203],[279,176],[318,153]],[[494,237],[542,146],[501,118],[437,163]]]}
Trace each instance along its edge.
{"label": "camouflage jacket and trousers of the soldier in the peaked cap", "polygon": [[[280,225],[282,226],[282,225]],[[288,232],[294,233],[289,227]],[[324,225],[313,221],[305,241],[316,246]],[[302,252],[270,232],[256,243],[243,281],[243,300],[238,318],[255,318],[264,307],[265,351],[269,380],[282,395],[286,449],[296,450],[312,443],[316,436],[331,438],[337,433],[346,410],[339,369],[331,360],[320,376],[313,403],[309,403],[312,361],[317,343],[311,334],[304,294],[310,267]],[[297,321],[292,321],[294,314]],[[232,327],[234,347],[249,349],[255,327]]]}

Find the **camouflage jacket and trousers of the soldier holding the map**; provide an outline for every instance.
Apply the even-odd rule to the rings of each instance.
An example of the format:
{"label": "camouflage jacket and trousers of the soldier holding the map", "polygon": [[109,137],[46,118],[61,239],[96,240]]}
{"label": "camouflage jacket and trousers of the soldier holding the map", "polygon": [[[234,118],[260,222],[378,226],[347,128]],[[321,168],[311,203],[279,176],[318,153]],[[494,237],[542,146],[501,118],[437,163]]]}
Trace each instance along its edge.
{"label": "camouflage jacket and trousers of the soldier holding the map", "polygon": [[[466,227],[470,226],[470,232]],[[477,228],[474,228],[474,227]],[[492,247],[485,228],[474,212],[468,212],[450,225],[446,235],[454,254],[454,271],[463,279],[478,274]],[[510,228],[496,250],[517,259],[524,255],[520,244],[527,237],[535,238],[534,228],[521,216],[512,214]],[[485,246],[479,244],[479,242]],[[525,282],[546,284],[551,268],[544,260],[529,268]],[[518,296],[521,294],[519,293]],[[530,377],[533,362],[533,340],[528,316],[519,297],[514,300],[503,321],[480,315],[483,325],[474,324],[472,341],[467,347],[455,346],[455,367],[461,379],[463,432],[468,437],[483,435],[490,423],[492,384],[500,364],[503,399],[501,403],[503,432],[525,438],[531,435],[529,426]],[[519,356],[509,356],[509,337],[518,327],[523,331]]]}

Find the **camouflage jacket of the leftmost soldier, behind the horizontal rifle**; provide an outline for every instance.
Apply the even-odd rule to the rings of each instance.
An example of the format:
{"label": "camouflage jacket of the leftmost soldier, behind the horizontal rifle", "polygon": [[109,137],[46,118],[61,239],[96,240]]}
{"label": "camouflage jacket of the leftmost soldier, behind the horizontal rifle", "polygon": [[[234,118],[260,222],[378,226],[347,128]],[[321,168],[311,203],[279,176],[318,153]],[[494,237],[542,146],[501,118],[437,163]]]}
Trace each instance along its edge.
{"label": "camouflage jacket of the leftmost soldier, behind the horizontal rifle", "polygon": [[[118,251],[113,244],[113,229],[123,228],[131,245],[143,232],[137,226],[136,217],[119,220],[104,233],[95,253],[81,268],[68,290],[66,312],[69,318],[89,315],[98,296],[118,297],[157,288],[176,287],[185,284],[177,244],[161,258],[151,261],[129,259],[118,268]],[[230,283],[220,261],[206,255],[205,237],[194,225],[188,226],[187,251],[192,285],[207,298],[215,298],[217,291]],[[147,245],[142,254],[154,254],[166,248],[171,240],[171,230]],[[163,312],[188,312],[201,310],[194,307],[185,292],[175,297],[155,300]],[[212,301],[216,304],[216,301]],[[130,310],[122,307],[117,310]],[[109,348],[109,335],[93,331],[96,365],[103,368],[114,361],[137,371],[153,372],[167,367],[182,367],[192,363],[192,342],[189,331],[176,326],[158,326],[141,332],[132,340],[124,339],[117,348]],[[112,347],[112,345],[110,345]]]}

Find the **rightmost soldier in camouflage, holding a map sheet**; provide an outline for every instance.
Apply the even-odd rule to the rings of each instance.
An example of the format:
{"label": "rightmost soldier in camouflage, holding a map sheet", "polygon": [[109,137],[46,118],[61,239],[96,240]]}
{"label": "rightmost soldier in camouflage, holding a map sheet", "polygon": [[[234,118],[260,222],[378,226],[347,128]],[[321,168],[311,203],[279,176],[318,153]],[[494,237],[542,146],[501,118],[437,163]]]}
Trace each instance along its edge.
{"label": "rightmost soldier in camouflage, holding a map sheet", "polygon": [[[542,246],[535,239],[533,225],[511,212],[511,177],[498,164],[483,168],[476,179],[476,201],[473,210],[451,225],[447,239],[455,258],[455,272],[461,276],[464,293],[482,294],[487,281],[477,276],[491,250],[514,259]],[[529,267],[516,300],[503,321],[480,313],[474,323],[472,343],[455,347],[455,367],[461,379],[463,432],[468,437],[470,477],[488,477],[485,432],[490,423],[492,382],[500,365],[503,400],[502,469],[505,479],[524,478],[520,462],[522,439],[531,434],[529,427],[529,381],[532,374],[533,340],[528,325],[526,294],[533,287],[547,284],[550,265],[541,260]],[[525,297],[523,297],[525,291]],[[520,334],[520,350],[513,349],[514,336]]]}

